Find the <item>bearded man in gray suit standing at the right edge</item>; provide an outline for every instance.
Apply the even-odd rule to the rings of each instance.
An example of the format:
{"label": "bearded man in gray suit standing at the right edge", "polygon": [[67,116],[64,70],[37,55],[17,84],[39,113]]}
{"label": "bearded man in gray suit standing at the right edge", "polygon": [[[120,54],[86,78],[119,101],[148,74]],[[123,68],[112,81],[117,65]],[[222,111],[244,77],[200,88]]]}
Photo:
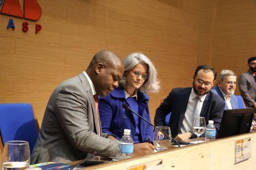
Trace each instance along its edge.
{"label": "bearded man in gray suit standing at the right edge", "polygon": [[238,86],[246,107],[256,108],[256,57],[248,59],[249,70],[239,76]]}

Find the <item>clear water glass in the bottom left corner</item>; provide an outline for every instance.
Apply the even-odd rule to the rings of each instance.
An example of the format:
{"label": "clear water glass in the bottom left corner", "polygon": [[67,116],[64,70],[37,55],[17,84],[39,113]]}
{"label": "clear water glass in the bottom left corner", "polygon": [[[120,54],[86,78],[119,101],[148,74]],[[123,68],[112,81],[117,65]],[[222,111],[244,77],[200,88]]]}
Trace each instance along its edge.
{"label": "clear water glass in the bottom left corner", "polygon": [[4,144],[2,170],[24,170],[30,164],[30,151],[27,141],[12,140]]}

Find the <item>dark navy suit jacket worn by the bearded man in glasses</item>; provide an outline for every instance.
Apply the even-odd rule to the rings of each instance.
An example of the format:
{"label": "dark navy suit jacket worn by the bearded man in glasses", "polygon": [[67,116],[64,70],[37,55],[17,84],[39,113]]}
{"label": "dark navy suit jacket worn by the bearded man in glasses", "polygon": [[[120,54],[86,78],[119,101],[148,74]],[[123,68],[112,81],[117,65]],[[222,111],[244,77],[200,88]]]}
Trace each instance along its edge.
{"label": "dark navy suit jacket worn by the bearded man in glasses", "polygon": [[[171,112],[168,126],[171,128],[171,134],[173,137],[179,133],[182,125],[191,89],[191,87],[173,89],[169,96],[165,98],[164,102],[156,109],[154,119],[156,126],[165,125],[165,116]],[[208,124],[208,120],[214,121],[216,133],[218,133],[218,130],[220,129],[224,107],[225,103],[220,96],[211,91],[208,92],[205,101],[203,101],[200,116],[205,117],[206,125]],[[192,134],[192,138],[196,138],[196,134],[192,129],[190,132]]]}

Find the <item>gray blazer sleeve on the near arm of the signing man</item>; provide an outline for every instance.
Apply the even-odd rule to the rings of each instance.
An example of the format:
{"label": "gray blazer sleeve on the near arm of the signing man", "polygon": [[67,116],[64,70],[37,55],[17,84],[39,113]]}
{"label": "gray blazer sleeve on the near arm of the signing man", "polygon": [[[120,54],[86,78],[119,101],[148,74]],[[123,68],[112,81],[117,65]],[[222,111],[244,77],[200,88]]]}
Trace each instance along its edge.
{"label": "gray blazer sleeve on the near arm of the signing man", "polygon": [[[119,142],[103,138],[93,132],[94,101],[91,91],[80,86],[64,86],[56,96],[55,113],[67,138],[77,150],[107,157],[109,153],[118,155]],[[90,100],[91,97],[91,100]]]}

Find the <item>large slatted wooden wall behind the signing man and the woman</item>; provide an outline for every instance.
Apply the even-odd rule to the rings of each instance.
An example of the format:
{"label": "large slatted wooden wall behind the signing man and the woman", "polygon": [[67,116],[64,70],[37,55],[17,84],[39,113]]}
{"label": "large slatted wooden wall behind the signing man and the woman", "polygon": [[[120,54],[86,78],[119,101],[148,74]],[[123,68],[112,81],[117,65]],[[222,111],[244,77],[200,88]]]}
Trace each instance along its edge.
{"label": "large slatted wooden wall behind the signing man and the woman", "polygon": [[[139,51],[154,62],[161,91],[149,94],[152,120],[171,89],[191,86],[199,0],[38,3],[43,11],[38,21],[0,14],[0,102],[32,103],[39,124],[55,87],[85,70],[100,50],[113,50],[121,58]],[[15,30],[6,29],[9,19]],[[22,31],[23,21],[29,23],[28,32]],[[35,24],[43,26],[37,35]]]}

